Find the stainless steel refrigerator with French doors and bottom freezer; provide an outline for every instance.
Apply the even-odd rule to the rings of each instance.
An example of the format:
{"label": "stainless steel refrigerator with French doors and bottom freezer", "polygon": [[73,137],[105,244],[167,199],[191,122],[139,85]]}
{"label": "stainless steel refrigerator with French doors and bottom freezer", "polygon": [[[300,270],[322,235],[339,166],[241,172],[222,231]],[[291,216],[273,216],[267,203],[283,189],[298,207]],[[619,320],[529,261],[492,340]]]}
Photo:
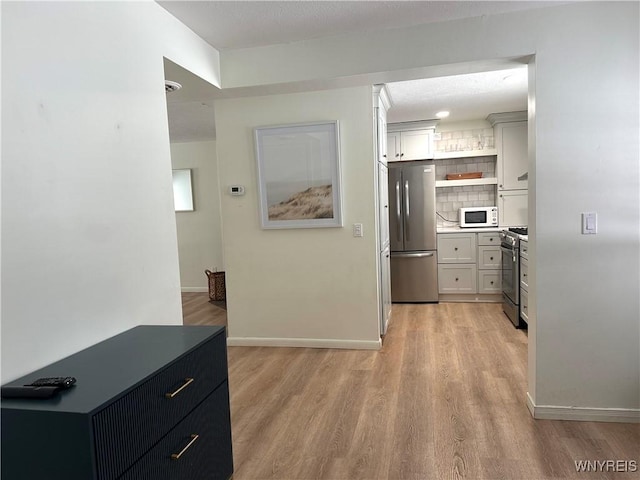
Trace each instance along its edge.
{"label": "stainless steel refrigerator with French doors and bottom freezer", "polygon": [[430,162],[389,163],[391,301],[438,301],[436,176]]}

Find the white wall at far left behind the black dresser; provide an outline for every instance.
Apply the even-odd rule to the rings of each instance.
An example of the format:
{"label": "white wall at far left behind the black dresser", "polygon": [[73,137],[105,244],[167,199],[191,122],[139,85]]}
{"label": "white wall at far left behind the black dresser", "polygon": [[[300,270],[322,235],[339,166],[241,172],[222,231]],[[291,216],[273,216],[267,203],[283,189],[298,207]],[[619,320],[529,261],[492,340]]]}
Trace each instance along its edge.
{"label": "white wall at far left behind the black dresser", "polygon": [[5,382],[181,323],[163,55],[214,84],[219,68],[154,2],[1,8]]}

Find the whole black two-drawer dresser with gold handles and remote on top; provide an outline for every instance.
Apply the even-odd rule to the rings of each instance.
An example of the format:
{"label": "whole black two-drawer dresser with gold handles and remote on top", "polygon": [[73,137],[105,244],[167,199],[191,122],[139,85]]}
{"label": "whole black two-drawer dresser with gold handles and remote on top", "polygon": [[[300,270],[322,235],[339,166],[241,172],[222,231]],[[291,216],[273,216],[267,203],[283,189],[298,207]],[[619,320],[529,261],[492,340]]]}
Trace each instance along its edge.
{"label": "whole black two-drawer dresser with gold handles and remote on top", "polygon": [[224,327],[140,326],[22,377],[72,376],[50,399],[2,399],[2,478],[227,480]]}

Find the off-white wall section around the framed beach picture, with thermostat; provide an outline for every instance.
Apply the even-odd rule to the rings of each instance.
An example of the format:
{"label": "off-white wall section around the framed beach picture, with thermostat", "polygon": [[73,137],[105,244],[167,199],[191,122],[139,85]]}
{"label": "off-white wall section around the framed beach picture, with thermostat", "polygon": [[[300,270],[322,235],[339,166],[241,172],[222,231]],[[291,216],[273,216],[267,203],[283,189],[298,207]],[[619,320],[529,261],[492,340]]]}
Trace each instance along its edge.
{"label": "off-white wall section around the framed beach picture, with thermostat", "polygon": [[[377,348],[370,86],[216,101],[229,344]],[[340,122],[344,228],[262,230],[253,128]],[[362,223],[364,237],[351,225]]]}

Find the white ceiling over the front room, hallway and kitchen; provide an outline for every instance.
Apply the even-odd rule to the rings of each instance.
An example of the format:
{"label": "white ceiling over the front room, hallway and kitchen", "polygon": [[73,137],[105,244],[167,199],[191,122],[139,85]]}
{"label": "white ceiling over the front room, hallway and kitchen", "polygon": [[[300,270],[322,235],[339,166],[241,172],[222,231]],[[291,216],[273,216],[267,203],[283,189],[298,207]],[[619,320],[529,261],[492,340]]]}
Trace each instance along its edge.
{"label": "white ceiling over the front room, hallway and kitchen", "polygon": [[[530,1],[159,1],[220,51],[290,43],[329,35],[398,28],[546,7]],[[566,3],[566,2],[563,2]],[[165,62],[165,75],[183,85],[167,95],[172,142],[215,139],[213,100],[220,91]],[[451,112],[443,122],[526,110],[526,67],[387,84],[389,121],[424,120]]]}

